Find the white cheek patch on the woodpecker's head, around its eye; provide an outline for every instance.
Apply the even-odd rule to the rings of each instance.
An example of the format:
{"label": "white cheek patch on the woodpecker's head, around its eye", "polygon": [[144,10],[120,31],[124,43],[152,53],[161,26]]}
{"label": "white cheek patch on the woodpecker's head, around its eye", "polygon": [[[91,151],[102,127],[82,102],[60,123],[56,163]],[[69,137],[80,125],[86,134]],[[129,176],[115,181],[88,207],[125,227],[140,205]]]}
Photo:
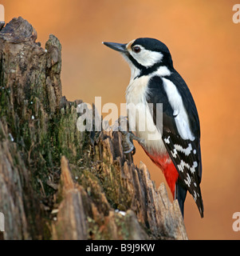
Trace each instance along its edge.
{"label": "white cheek patch on the woodpecker's head, around its eye", "polygon": [[129,54],[132,55],[132,58],[136,59],[136,62],[139,62],[142,66],[150,67],[155,63],[161,62],[163,54],[157,51],[146,50],[143,46],[140,46],[140,53],[136,54],[134,51],[129,50]]}

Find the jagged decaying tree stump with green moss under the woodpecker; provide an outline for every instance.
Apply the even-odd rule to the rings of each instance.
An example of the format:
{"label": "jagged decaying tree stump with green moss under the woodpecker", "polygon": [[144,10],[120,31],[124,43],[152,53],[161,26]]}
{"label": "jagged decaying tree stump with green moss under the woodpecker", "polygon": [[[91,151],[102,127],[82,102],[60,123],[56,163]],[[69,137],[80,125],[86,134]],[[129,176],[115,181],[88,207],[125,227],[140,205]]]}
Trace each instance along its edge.
{"label": "jagged decaying tree stump with green moss under the woodpecker", "polygon": [[187,239],[178,202],[155,188],[119,132],[77,130],[61,94],[61,44],[22,18],[0,31],[0,212],[5,239]]}

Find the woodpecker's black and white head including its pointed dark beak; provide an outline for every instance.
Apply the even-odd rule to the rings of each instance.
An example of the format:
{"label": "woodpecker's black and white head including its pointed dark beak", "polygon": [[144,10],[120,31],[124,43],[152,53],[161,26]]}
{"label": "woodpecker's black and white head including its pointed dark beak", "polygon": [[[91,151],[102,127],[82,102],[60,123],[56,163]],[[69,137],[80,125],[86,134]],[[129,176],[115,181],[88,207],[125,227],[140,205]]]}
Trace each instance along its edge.
{"label": "woodpecker's black and white head including its pointed dark beak", "polygon": [[148,75],[160,66],[173,68],[171,54],[167,46],[154,38],[137,38],[126,44],[103,42],[105,46],[117,50],[127,60],[132,72]]}

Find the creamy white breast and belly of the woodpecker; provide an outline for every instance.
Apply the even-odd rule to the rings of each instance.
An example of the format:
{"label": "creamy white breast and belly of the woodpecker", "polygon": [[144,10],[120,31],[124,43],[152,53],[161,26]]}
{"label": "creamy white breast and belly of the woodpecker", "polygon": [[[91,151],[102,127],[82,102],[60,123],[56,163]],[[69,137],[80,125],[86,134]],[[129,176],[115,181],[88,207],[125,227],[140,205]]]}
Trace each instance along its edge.
{"label": "creamy white breast and belly of the woodpecker", "polygon": [[[126,90],[126,102],[128,110],[128,122],[130,130],[136,133],[136,136],[144,139],[144,148],[150,154],[167,154],[166,147],[163,144],[162,134],[156,128],[151,111],[148,107],[148,82],[149,76],[132,78]],[[135,109],[133,110],[133,108]],[[137,110],[137,111],[136,111]]]}

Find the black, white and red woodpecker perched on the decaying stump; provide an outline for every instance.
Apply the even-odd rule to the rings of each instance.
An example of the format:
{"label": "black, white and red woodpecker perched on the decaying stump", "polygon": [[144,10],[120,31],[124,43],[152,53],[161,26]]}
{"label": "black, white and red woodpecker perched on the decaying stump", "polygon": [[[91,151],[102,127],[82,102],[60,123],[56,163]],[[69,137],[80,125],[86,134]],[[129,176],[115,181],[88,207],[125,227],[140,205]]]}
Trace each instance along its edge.
{"label": "black, white and red woodpecker perched on the decaying stump", "polygon": [[[146,113],[144,122],[148,122],[148,127],[155,126],[159,133],[158,139],[149,139],[148,130],[140,130],[136,122],[136,136],[144,140],[141,146],[163,170],[182,214],[188,190],[203,218],[199,114],[187,84],[173,66],[170,51],[154,38],[137,38],[127,44],[103,43],[119,51],[131,68],[127,104],[141,103]],[[148,103],[153,103],[153,110]],[[162,127],[156,122],[156,103],[163,104]]]}

